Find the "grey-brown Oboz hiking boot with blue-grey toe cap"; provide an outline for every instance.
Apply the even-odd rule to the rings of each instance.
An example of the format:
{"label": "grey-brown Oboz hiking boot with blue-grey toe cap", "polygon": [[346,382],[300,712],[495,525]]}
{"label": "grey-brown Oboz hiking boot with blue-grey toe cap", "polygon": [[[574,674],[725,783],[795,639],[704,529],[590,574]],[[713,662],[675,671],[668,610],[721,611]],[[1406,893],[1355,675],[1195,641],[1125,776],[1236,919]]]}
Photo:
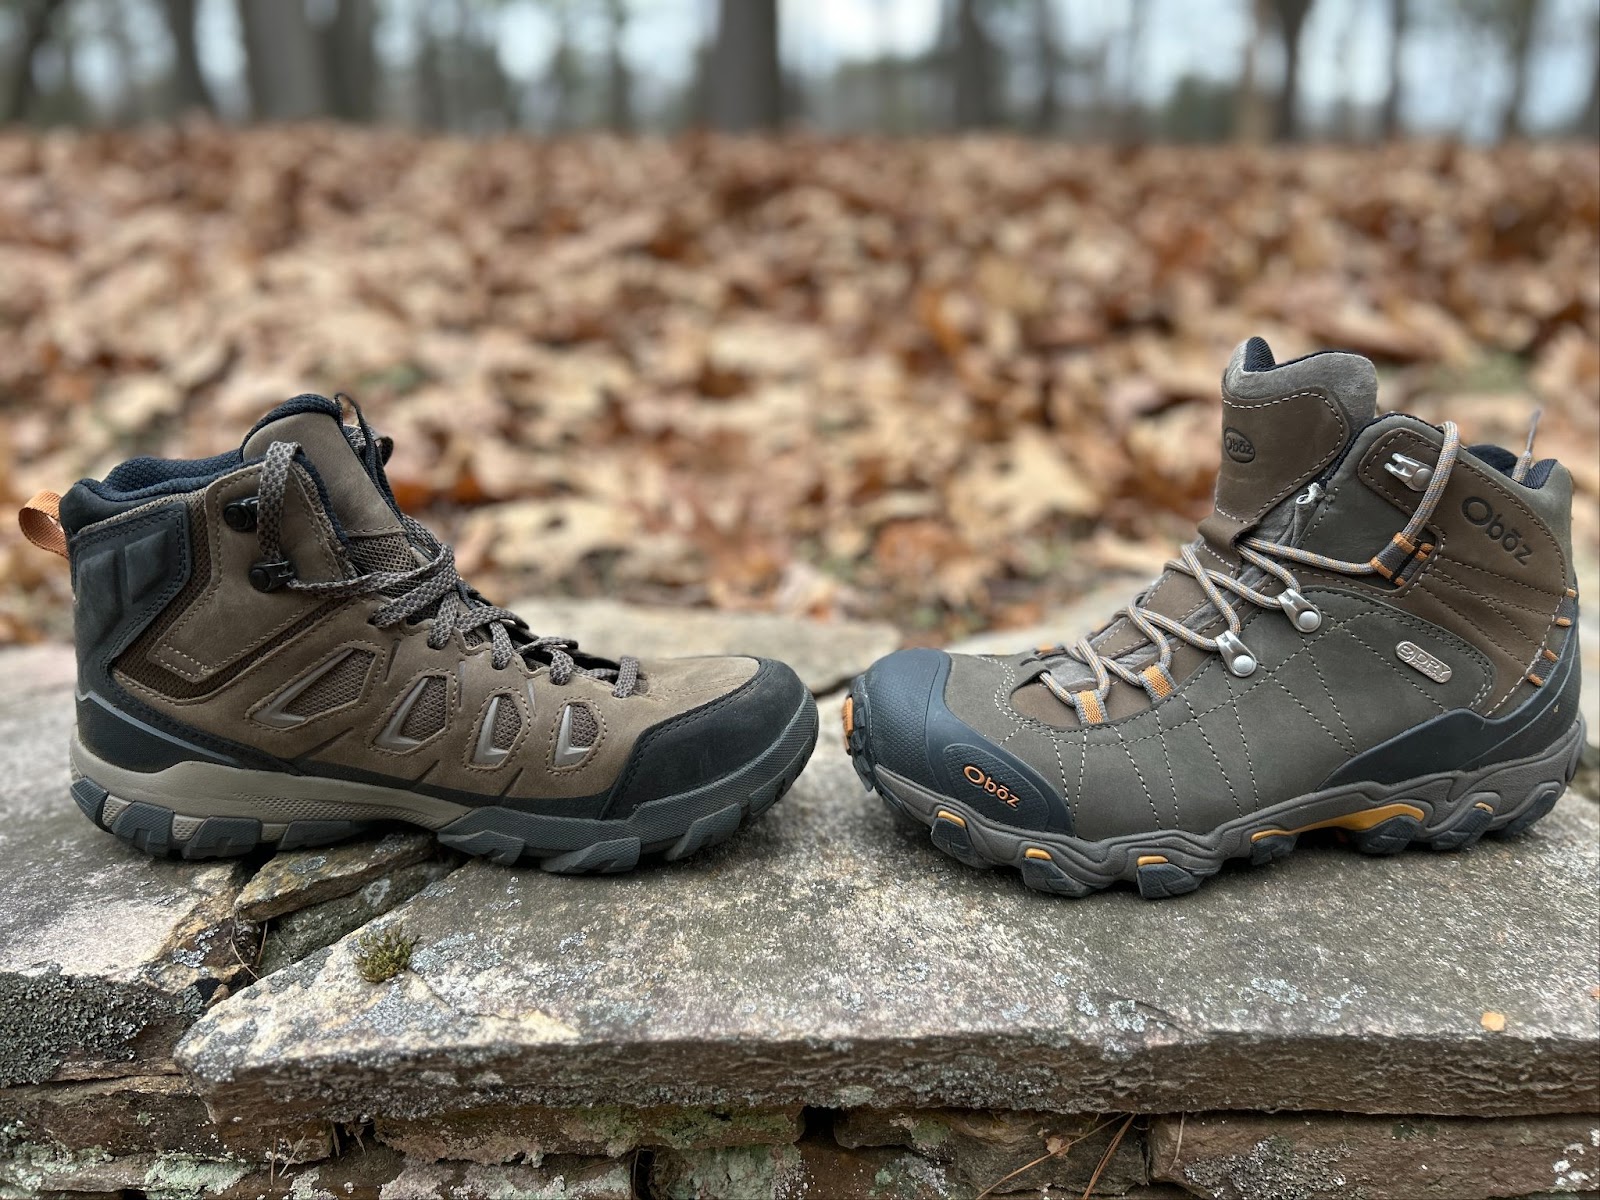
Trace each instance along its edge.
{"label": "grey-brown Oboz hiking boot with blue-grey toe cap", "polygon": [[1578,768],[1573,482],[1376,416],[1354,354],[1222,376],[1200,538],[1070,646],[907,650],[851,686],[869,787],[971,866],[1190,891],[1334,829],[1374,854],[1517,834]]}

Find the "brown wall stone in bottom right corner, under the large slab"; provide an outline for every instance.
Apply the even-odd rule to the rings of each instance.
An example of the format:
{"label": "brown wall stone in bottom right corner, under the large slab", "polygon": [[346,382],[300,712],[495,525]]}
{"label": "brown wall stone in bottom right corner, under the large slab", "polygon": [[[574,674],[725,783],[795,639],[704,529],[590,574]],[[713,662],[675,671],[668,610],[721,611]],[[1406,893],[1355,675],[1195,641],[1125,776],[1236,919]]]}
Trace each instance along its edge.
{"label": "brown wall stone in bottom right corner, under the large slab", "polygon": [[1214,1200],[1493,1200],[1600,1189],[1600,1114],[1158,1117],[1150,1174]]}

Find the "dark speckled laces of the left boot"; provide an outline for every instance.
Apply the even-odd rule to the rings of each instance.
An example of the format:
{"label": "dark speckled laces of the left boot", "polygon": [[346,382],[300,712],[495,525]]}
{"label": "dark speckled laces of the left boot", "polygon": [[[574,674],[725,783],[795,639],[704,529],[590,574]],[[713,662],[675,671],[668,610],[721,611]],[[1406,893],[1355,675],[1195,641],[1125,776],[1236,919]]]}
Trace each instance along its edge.
{"label": "dark speckled laces of the left boot", "polygon": [[314,582],[299,579],[288,566],[283,554],[283,499],[288,490],[290,467],[299,453],[296,442],[274,442],[267,446],[261,464],[261,486],[256,512],[256,538],[262,562],[258,570],[270,573],[272,587],[288,587],[306,595],[330,600],[362,595],[382,595],[387,603],[371,616],[379,629],[406,621],[437,603],[434,627],[427,634],[432,650],[443,650],[454,634],[488,630],[490,661],[496,670],[504,670],[518,654],[523,659],[542,654],[550,661],[550,682],[568,683],[573,675],[614,683],[611,694],[618,699],[632,696],[638,686],[638,659],[624,656],[616,667],[581,667],[573,654],[578,642],[566,637],[538,637],[528,632],[528,624],[509,608],[488,603],[456,571],[456,554],[435,538],[426,525],[402,514],[400,522],[406,541],[424,558],[410,571],[368,571],[350,579]]}

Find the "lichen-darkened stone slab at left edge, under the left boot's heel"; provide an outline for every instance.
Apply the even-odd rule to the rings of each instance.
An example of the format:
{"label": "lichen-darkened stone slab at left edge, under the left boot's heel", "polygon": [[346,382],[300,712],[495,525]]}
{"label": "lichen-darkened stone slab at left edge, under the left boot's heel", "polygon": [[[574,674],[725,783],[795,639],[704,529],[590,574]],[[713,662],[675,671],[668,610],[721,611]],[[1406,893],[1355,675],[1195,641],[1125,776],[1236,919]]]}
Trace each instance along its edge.
{"label": "lichen-darkened stone slab at left edge, under the left boot's heel", "polygon": [[152,861],[77,810],[70,648],[8,650],[0,674],[0,1086],[170,1070],[254,950],[245,870]]}

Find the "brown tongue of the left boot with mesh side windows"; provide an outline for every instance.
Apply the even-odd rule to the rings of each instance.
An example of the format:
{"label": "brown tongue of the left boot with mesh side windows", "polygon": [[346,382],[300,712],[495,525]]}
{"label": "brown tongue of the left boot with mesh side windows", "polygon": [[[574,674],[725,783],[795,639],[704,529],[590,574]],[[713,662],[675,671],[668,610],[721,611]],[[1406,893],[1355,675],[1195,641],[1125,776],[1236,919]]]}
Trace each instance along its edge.
{"label": "brown tongue of the left boot with mesh side windows", "polygon": [[410,554],[400,517],[389,504],[376,453],[365,461],[346,435],[344,410],[320,395],[298,395],[267,413],[245,437],[242,454],[259,459],[274,442],[298,442],[322,480],[352,557],[365,570],[408,570]]}

